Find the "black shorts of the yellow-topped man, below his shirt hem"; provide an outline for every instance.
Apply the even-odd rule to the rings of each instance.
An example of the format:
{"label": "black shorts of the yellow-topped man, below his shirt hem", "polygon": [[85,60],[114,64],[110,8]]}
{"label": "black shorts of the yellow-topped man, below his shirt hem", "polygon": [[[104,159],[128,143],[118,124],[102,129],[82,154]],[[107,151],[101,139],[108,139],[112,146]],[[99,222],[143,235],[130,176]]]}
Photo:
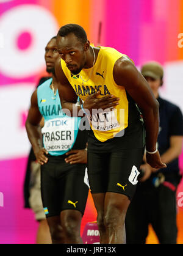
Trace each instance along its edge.
{"label": "black shorts of the yellow-topped man, below his shirt hem", "polygon": [[121,152],[88,153],[88,179],[91,193],[115,192],[129,200],[135,193],[144,148]]}

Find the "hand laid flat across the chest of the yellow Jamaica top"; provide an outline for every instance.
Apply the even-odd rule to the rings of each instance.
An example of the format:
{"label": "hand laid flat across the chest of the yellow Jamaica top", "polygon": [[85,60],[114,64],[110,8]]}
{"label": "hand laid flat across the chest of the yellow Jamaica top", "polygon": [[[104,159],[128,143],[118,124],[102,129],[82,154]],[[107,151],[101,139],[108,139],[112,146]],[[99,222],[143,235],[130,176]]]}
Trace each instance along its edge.
{"label": "hand laid flat across the chest of the yellow Jamaica top", "polygon": [[120,98],[117,98],[113,95],[107,95],[102,98],[98,98],[98,95],[100,94],[100,91],[89,95],[86,100],[84,101],[83,108],[87,112],[90,111],[90,114],[92,113],[92,109],[111,109],[115,108],[119,103],[118,101]]}

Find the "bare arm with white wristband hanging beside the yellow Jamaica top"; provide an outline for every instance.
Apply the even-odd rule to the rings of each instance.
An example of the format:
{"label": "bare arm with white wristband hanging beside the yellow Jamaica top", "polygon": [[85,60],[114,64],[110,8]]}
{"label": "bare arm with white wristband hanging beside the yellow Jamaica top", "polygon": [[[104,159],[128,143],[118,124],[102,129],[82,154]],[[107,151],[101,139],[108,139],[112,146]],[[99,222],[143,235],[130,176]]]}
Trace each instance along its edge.
{"label": "bare arm with white wristband hanging beside the yellow Jamaica top", "polygon": [[[159,103],[154,97],[148,82],[127,57],[121,57],[113,68],[113,78],[119,86],[124,86],[135,103],[141,109],[146,128],[146,150],[156,150],[159,133]],[[166,167],[161,162],[159,152],[149,155],[146,159],[152,167]]]}

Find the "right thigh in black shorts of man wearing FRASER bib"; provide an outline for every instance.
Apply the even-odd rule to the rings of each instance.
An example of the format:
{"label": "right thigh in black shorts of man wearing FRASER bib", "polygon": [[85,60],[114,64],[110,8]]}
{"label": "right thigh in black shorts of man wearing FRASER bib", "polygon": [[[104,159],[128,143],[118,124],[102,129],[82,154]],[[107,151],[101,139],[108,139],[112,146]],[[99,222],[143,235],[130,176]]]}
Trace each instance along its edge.
{"label": "right thigh in black shorts of man wearing FRASER bib", "polygon": [[[67,164],[65,175],[60,178],[61,211],[77,210],[84,214],[88,197],[85,164]],[[63,191],[64,187],[64,191]]]}

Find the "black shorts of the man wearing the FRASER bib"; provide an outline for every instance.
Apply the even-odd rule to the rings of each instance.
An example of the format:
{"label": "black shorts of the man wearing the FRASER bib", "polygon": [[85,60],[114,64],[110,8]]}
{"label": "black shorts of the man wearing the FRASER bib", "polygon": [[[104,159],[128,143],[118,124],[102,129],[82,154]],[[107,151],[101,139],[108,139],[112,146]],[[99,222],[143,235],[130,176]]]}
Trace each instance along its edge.
{"label": "black shorts of the man wearing the FRASER bib", "polygon": [[46,218],[58,216],[63,210],[84,214],[88,185],[84,182],[86,164],[67,164],[66,156],[48,155],[41,166],[41,197]]}

